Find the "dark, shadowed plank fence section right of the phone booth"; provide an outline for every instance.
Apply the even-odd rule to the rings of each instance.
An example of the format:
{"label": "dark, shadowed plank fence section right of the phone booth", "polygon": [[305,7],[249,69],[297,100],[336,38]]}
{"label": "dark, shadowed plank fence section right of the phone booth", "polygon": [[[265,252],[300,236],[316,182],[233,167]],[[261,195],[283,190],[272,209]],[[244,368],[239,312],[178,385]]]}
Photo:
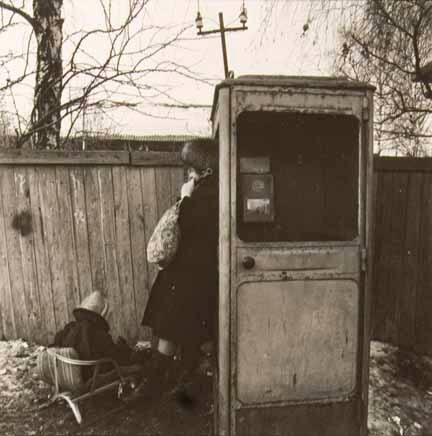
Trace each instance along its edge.
{"label": "dark, shadowed plank fence section right of the phone booth", "polygon": [[432,354],[432,159],[375,159],[372,336]]}

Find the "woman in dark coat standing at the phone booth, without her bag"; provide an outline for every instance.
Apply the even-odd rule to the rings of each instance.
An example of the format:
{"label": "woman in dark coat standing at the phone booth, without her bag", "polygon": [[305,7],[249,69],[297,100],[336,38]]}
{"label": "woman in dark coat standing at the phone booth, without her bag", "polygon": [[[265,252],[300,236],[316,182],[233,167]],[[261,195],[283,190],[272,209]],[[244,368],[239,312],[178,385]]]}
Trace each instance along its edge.
{"label": "woman in dark coat standing at the phone booth, without her bag", "polygon": [[[175,259],[159,271],[142,324],[158,338],[152,387],[172,364],[180,348],[192,369],[199,348],[215,337],[218,303],[218,148],[210,139],[187,143],[182,160],[188,181],[182,186],[180,245]],[[148,387],[147,387],[148,388]]]}

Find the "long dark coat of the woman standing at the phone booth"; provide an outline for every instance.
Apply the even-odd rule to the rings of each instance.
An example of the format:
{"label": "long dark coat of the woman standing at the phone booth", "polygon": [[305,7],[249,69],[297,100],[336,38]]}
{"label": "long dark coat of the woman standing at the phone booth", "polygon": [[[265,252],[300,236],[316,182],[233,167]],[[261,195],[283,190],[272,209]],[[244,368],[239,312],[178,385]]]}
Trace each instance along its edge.
{"label": "long dark coat of the woman standing at the phone booth", "polygon": [[180,246],[153,284],[143,325],[183,347],[215,335],[218,303],[218,181],[201,181],[180,206]]}

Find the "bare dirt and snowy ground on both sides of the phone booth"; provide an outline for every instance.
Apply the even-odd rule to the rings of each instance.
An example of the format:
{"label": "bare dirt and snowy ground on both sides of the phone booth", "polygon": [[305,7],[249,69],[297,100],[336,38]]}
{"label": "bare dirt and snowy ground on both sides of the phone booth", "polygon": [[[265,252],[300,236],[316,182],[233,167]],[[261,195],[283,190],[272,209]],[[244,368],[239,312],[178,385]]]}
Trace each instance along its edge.
{"label": "bare dirt and snowy ground on both sides of the phone booth", "polygon": [[[107,393],[83,403],[79,426],[65,404],[37,410],[50,387],[34,374],[37,345],[0,341],[0,435],[212,434],[211,379],[196,386],[196,403],[167,395],[127,407]],[[372,342],[370,436],[432,436],[432,359]]]}

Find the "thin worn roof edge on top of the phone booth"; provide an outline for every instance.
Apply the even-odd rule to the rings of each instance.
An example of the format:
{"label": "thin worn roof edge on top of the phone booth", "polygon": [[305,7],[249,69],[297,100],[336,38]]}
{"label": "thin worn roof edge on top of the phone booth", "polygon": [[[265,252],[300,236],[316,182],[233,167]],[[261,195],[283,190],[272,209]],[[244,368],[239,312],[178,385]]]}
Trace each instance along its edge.
{"label": "thin worn roof edge on top of the phone booth", "polygon": [[273,75],[245,75],[236,79],[226,79],[216,85],[211,119],[218,103],[219,90],[235,86],[257,86],[257,87],[287,87],[287,88],[320,88],[334,90],[358,90],[374,91],[375,87],[365,82],[348,80],[344,77],[326,76],[273,76]]}

